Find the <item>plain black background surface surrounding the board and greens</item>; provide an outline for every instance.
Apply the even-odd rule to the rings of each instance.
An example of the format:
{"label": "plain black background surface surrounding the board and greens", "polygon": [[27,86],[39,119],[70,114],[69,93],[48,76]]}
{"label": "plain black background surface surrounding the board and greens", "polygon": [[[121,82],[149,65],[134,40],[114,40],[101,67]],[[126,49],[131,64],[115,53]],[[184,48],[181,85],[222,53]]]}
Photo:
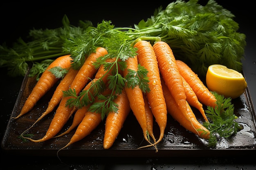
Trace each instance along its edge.
{"label": "plain black background surface surrounding the board and greens", "polygon": [[[256,48],[255,48],[255,18],[252,14],[252,2],[244,0],[239,4],[235,4],[231,0],[225,2],[217,1],[223,7],[234,13],[235,20],[240,26],[240,32],[247,35],[247,46],[245,49],[245,59],[243,62],[243,72],[248,84],[250,97],[252,99],[252,106],[256,107]],[[5,4],[6,3],[6,4]],[[33,27],[42,28],[47,26],[61,26],[63,15],[67,13],[70,20],[93,20],[94,22],[101,22],[102,19],[116,21],[119,26],[132,25],[138,23],[139,20],[135,18],[148,18],[153,10],[161,4],[161,2],[152,4],[107,4],[102,7],[81,7],[79,2],[72,4],[52,4],[47,5],[45,2],[39,7],[27,7],[27,4],[11,4],[5,2],[8,12],[3,13],[4,28],[1,31],[2,40],[11,43],[19,36],[25,36],[27,31]],[[20,8],[20,5],[24,5]],[[98,4],[99,5],[99,4]],[[115,6],[115,8],[113,8]],[[61,9],[61,10],[60,10]],[[54,11],[55,10],[55,11]],[[13,17],[11,13],[15,12]],[[119,13],[122,14],[120,18]],[[79,18],[77,17],[79,16]],[[104,18],[105,17],[105,18]],[[75,24],[76,22],[74,22]],[[118,24],[116,24],[118,26]],[[16,27],[17,31],[10,33],[10,28]],[[2,42],[1,42],[2,43]],[[17,95],[23,77],[10,78],[7,76],[7,71],[3,68],[1,70],[2,81],[0,83],[1,89],[4,89],[0,95],[1,110],[1,140],[10,118],[11,111],[16,102]],[[8,163],[7,163],[8,161]],[[11,162],[9,162],[11,161]],[[234,155],[234,157],[211,157],[211,155],[184,155],[184,157],[63,157],[61,163],[57,157],[33,157],[9,155],[1,150],[1,162],[6,170],[195,170],[195,169],[218,169],[218,170],[255,170],[256,162],[251,155]]]}

